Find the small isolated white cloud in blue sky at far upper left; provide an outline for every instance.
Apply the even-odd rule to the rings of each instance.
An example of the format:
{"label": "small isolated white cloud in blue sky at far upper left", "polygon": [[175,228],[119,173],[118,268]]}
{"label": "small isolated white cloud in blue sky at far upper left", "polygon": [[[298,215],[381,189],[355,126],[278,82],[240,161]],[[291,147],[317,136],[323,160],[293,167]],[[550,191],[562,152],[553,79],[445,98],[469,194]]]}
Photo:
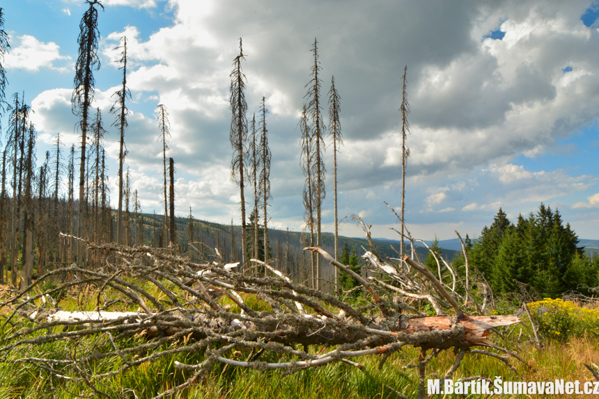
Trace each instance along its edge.
{"label": "small isolated white cloud in blue sky at far upper left", "polygon": [[55,67],[56,60],[70,60],[70,56],[61,56],[60,47],[54,42],[40,42],[31,35],[22,35],[17,38],[19,44],[4,56],[3,66],[10,69],[21,69],[37,72],[40,68],[53,70],[67,70],[66,67]]}

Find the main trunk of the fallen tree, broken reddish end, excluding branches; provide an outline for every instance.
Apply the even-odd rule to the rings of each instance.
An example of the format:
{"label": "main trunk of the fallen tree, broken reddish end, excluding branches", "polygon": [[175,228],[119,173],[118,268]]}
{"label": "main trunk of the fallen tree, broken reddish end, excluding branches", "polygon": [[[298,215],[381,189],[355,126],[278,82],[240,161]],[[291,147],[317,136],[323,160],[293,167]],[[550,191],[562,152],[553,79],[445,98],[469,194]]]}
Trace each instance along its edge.
{"label": "main trunk of the fallen tree, broken reddish end, excluding branches", "polygon": [[[343,345],[370,339],[372,344],[384,345],[394,341],[404,341],[419,348],[469,348],[472,346],[492,346],[487,336],[491,329],[505,327],[520,323],[516,316],[465,316],[458,319],[449,316],[432,317],[400,317],[395,325],[389,326],[388,320],[382,323],[371,323],[368,327],[361,327],[344,323],[344,320],[328,320],[309,314],[295,315],[287,320],[271,315],[258,315],[255,318],[211,318],[205,314],[196,314],[191,319],[197,331],[192,336],[195,339],[205,339],[208,335],[203,330],[212,329],[217,325],[221,334],[229,334],[238,329],[255,332],[262,338],[272,342],[291,345]],[[166,335],[175,335],[185,331],[185,327],[173,326],[173,323],[157,323],[150,315],[137,312],[116,311],[57,311],[47,316],[48,323],[68,325],[101,325],[102,323],[120,321],[127,323],[134,320],[141,327],[146,325],[145,334],[153,337],[162,330]],[[286,322],[286,323],[285,323]],[[83,324],[81,324],[83,323]],[[275,325],[276,324],[276,325]],[[318,328],[318,334],[313,333],[313,328]],[[385,327],[391,327],[386,330]],[[377,337],[373,339],[373,337]]]}

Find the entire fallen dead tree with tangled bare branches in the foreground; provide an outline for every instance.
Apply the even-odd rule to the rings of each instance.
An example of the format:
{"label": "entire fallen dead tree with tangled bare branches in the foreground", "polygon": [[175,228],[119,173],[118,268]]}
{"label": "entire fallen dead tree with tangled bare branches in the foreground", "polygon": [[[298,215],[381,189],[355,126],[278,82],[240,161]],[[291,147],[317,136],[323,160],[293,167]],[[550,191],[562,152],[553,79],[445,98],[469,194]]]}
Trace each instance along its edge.
{"label": "entire fallen dead tree with tangled bare branches in the foreground", "polygon": [[[192,376],[156,398],[194,384],[215,362],[295,373],[343,361],[363,370],[361,364],[350,358],[384,354],[386,359],[403,346],[412,345],[421,349],[417,364],[418,396],[423,398],[426,364],[441,350],[455,348],[457,353],[456,362],[444,375],[450,378],[474,346],[507,353],[489,341],[488,335],[497,327],[520,323],[515,316],[468,314],[458,304],[464,300],[456,292],[458,273],[452,272],[450,293],[442,279],[437,279],[417,260],[407,256],[400,261],[383,259],[374,245],[364,258],[378,272],[378,277],[369,279],[352,272],[320,248],[306,248],[319,252],[361,283],[371,303],[355,307],[339,295],[296,284],[255,259],[251,260],[254,265],[264,266],[277,277],[254,277],[247,270],[244,274],[235,272],[238,264],[224,264],[217,252],[214,259],[193,263],[171,250],[115,243],[95,245],[65,237],[80,241],[88,250],[112,254],[113,261],[105,261],[102,267],[80,268],[73,264],[52,270],[22,293],[2,302],[3,309],[10,309],[2,315],[5,331],[15,318],[29,319],[30,327],[7,332],[0,348],[1,360],[32,364],[52,377],[84,382],[98,395],[107,397],[110,395],[95,382],[180,352],[205,351],[205,358],[198,364],[176,362],[177,368],[191,372]],[[40,286],[51,280],[62,283],[42,292]],[[65,311],[60,305],[70,293],[87,295],[87,299],[91,295],[93,300],[79,298],[78,304],[87,309]],[[265,302],[266,310],[248,306],[244,298],[249,295]],[[224,297],[228,300],[224,301]],[[437,316],[421,314],[408,300],[430,302]],[[476,313],[479,306],[472,302],[472,313]],[[138,307],[137,311],[132,311],[132,307]],[[77,347],[77,342],[88,336],[98,337],[95,345]],[[132,336],[144,336],[147,341],[127,346],[125,341]],[[15,348],[56,341],[77,347],[77,357],[8,357]],[[181,344],[163,349],[165,343],[176,341]],[[320,351],[309,350],[310,345],[316,345]],[[254,354],[248,361],[230,358],[233,351],[243,349]],[[280,361],[260,361],[259,356],[265,351],[279,354]],[[497,357],[513,368],[507,359],[494,352],[474,352]],[[117,359],[120,363],[114,370],[95,373],[88,365],[100,359]],[[406,397],[391,387],[387,389]]]}

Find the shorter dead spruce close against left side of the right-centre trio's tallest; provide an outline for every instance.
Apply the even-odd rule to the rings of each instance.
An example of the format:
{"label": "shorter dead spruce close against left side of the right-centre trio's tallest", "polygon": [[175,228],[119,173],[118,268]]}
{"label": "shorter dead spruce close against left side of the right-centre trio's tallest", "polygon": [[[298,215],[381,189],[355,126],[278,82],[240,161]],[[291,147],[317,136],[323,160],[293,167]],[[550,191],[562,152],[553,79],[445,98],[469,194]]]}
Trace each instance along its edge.
{"label": "shorter dead spruce close against left side of the right-centre trio's tallest", "polygon": [[[299,140],[302,145],[302,170],[306,180],[304,181],[304,223],[306,223],[306,229],[310,230],[310,247],[314,246],[314,194],[316,193],[315,180],[312,174],[312,165],[314,158],[314,141],[312,140],[312,134],[310,131],[310,124],[308,121],[308,111],[306,105],[302,108],[302,117],[299,118],[299,131],[302,132],[302,138]],[[310,280],[311,287],[316,288],[316,262],[314,260],[315,255],[313,252],[310,253]]]}

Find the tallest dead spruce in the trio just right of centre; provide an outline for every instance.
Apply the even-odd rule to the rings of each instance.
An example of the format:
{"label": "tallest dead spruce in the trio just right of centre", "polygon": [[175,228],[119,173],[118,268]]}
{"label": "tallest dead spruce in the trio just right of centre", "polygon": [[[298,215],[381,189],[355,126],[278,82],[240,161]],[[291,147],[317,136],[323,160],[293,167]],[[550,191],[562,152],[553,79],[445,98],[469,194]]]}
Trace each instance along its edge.
{"label": "tallest dead spruce in the trio just right of centre", "polygon": [[[308,92],[304,99],[308,99],[308,116],[311,120],[312,140],[314,141],[314,161],[313,161],[313,179],[316,193],[314,195],[316,209],[316,246],[322,247],[321,221],[322,221],[322,201],[325,200],[325,161],[322,158],[322,152],[325,151],[325,121],[322,118],[322,109],[320,106],[320,86],[322,80],[318,77],[318,72],[322,70],[320,61],[318,60],[318,42],[314,38],[314,44],[311,51],[314,56],[314,64],[311,67],[312,80],[309,81],[304,88],[308,88]],[[322,265],[318,254],[316,255],[316,288],[320,288],[320,279],[322,278]]]}

